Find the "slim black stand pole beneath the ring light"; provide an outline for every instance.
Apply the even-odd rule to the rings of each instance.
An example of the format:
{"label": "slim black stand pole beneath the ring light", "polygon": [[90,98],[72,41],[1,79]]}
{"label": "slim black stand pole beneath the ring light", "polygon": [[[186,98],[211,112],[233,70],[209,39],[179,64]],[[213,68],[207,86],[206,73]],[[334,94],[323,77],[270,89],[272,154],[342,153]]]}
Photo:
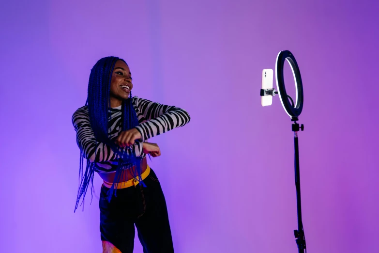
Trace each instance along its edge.
{"label": "slim black stand pole beneath the ring light", "polygon": [[301,127],[296,122],[299,119],[296,117],[292,117],[292,131],[295,132],[294,143],[295,143],[295,185],[296,185],[296,203],[297,203],[297,224],[298,230],[294,230],[296,244],[299,248],[299,253],[304,253],[305,249],[305,237],[303,231],[303,221],[302,221],[302,201],[301,201],[301,193],[300,193],[300,162],[299,162],[299,138],[298,132],[301,129],[304,130],[304,125]]}

